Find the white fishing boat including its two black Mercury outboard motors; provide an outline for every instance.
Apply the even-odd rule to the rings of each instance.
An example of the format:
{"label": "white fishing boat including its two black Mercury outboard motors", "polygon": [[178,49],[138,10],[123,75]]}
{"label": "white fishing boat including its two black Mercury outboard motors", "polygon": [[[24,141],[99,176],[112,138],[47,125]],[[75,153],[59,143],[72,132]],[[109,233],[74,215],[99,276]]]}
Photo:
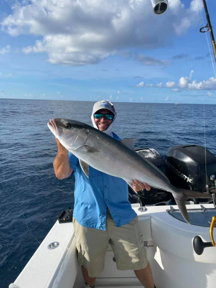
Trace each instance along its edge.
{"label": "white fishing boat including its two black Mercury outboard motors", "polygon": [[[204,157],[204,148],[201,146],[173,146],[168,149],[164,157],[166,163],[154,149],[137,149],[137,153],[147,160],[151,159],[152,163],[164,173],[167,170],[170,181],[174,180],[176,184],[178,183],[178,187],[187,184],[193,190],[206,188],[205,177],[202,176],[203,163],[206,161],[206,177],[209,179],[210,190],[215,191],[215,178],[213,176],[216,172],[216,157],[208,150],[205,151]],[[187,161],[184,163],[185,159]],[[181,173],[175,168],[179,167],[180,164]],[[185,171],[191,179],[185,176]],[[193,171],[199,171],[199,173],[196,172],[196,175],[193,176]],[[187,224],[184,222],[177,205],[173,205],[173,207],[170,204],[161,206],[163,203],[168,204],[170,202],[171,194],[169,192],[156,188],[151,190],[154,199],[156,199],[155,204],[148,205],[146,202],[148,206],[141,207],[140,204],[143,204],[140,201],[140,204],[131,205],[138,214],[143,244],[146,245],[156,287],[191,288],[194,287],[194,281],[196,281],[197,288],[215,287],[216,247],[212,247],[213,238],[216,238],[216,230],[213,232],[214,226],[211,227],[212,241],[209,238],[209,221],[211,221],[212,216],[216,216],[214,204],[208,202],[202,203],[202,205],[200,205],[201,203],[191,204],[197,199],[188,202],[187,211],[192,224]],[[131,202],[133,200],[138,202],[139,198],[135,196],[138,197],[137,194],[132,195],[129,190]],[[145,195],[143,201],[144,199]],[[161,202],[161,200],[163,201]],[[69,210],[69,212],[71,211]],[[64,218],[66,218],[65,215]],[[214,223],[212,222],[212,224]],[[193,239],[197,235],[202,237],[202,241],[210,242],[211,246],[206,247],[201,255],[196,254],[193,248]],[[195,248],[202,250],[202,245]],[[80,288],[83,281],[77,261],[73,224],[72,222],[58,223],[57,221],[26,267],[9,287]],[[110,246],[105,257],[105,269],[97,278],[96,286],[106,288],[142,287],[134,271],[116,269],[114,254]]]}

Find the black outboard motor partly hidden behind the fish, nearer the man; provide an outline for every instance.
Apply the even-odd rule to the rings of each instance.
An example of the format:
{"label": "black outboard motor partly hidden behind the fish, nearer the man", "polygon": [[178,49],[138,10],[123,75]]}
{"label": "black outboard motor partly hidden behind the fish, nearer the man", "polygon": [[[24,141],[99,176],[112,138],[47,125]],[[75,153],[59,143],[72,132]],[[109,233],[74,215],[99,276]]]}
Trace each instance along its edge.
{"label": "black outboard motor partly hidden behind the fish, nearer the man", "polygon": [[[143,158],[149,160],[152,164],[158,167],[166,175],[166,164],[164,159],[155,149],[143,148],[136,149]],[[166,175],[167,176],[167,175]],[[141,206],[145,205],[168,205],[171,201],[172,193],[151,187],[150,191],[139,191],[140,197],[131,189],[128,188],[129,201],[131,203],[140,203]]]}

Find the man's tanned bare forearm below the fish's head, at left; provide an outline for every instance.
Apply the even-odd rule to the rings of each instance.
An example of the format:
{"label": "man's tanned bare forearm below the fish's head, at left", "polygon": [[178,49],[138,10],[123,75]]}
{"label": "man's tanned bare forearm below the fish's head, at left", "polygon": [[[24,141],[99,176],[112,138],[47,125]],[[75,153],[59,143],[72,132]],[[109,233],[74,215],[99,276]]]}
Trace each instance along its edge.
{"label": "man's tanned bare forearm below the fish's head, at left", "polygon": [[62,180],[64,178],[67,178],[71,173],[70,164],[68,160],[68,154],[65,154],[65,153],[62,154],[58,152],[53,162],[53,167],[55,171],[55,176],[58,179]]}

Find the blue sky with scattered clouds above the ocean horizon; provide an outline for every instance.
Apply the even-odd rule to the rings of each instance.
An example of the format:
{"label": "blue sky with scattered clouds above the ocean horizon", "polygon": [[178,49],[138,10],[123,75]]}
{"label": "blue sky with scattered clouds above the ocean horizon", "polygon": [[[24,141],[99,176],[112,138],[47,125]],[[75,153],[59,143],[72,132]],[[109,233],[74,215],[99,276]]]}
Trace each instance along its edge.
{"label": "blue sky with scattered clouds above the ocean horizon", "polygon": [[216,104],[202,0],[0,3],[0,98]]}

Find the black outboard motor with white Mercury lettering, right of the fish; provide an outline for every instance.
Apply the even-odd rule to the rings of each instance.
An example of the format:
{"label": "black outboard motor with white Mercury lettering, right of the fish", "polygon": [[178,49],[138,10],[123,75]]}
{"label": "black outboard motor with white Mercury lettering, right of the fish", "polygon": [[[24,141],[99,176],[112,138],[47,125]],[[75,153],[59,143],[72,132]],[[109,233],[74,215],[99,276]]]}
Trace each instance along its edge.
{"label": "black outboard motor with white Mercury lettering, right of the fish", "polygon": [[[173,186],[198,192],[208,191],[213,193],[214,201],[216,157],[210,151],[199,145],[178,145],[168,149],[164,160],[167,177]],[[202,199],[202,202],[205,201]]]}

